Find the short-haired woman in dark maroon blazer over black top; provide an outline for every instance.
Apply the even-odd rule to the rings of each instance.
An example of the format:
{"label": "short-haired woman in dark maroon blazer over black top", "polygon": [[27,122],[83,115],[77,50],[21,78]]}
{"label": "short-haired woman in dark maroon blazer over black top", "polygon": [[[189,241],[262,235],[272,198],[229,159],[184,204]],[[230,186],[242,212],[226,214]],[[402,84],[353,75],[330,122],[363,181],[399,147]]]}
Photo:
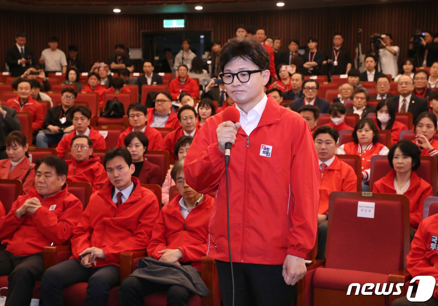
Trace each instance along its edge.
{"label": "short-haired woman in dark maroon blazer over black top", "polygon": [[131,132],[125,137],[124,142],[129,153],[131,153],[132,163],[135,166],[132,176],[138,178],[140,184],[161,185],[160,167],[148,162],[144,157],[148,152],[148,137],[140,131]]}

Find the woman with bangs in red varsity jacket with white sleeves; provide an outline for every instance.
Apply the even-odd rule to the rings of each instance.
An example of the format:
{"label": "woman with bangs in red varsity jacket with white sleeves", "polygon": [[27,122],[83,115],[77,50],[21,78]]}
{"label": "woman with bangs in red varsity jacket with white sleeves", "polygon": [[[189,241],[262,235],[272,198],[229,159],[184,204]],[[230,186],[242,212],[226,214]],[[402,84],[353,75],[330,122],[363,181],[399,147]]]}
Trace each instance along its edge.
{"label": "woman with bangs in red varsity jacket with white sleeves", "polygon": [[[389,149],[377,142],[379,140],[377,126],[370,118],[359,120],[352,135],[353,141],[341,145],[337,154],[360,156],[362,160],[362,185],[367,185],[370,180],[371,157],[373,155],[388,155]],[[367,190],[367,187],[362,186],[362,191]]]}

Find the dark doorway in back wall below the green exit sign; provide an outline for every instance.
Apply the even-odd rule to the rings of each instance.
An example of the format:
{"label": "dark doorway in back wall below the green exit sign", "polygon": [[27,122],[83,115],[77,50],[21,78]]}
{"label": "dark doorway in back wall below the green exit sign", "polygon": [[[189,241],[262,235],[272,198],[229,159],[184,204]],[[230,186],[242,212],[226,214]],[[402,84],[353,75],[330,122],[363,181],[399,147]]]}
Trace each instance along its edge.
{"label": "dark doorway in back wall below the green exit sign", "polygon": [[143,32],[143,58],[155,62],[155,70],[161,71],[161,60],[164,58],[164,49],[170,48],[174,54],[181,50],[181,41],[191,39],[190,49],[202,58],[206,49],[210,49],[212,41],[211,31],[205,32]]}

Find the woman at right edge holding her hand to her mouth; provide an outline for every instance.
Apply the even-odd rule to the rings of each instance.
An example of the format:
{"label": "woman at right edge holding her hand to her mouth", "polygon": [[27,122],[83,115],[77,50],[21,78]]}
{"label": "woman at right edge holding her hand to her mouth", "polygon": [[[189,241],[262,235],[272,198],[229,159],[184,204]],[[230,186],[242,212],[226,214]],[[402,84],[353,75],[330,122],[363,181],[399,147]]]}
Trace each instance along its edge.
{"label": "woman at right edge holding her hand to her mouth", "polygon": [[421,156],[438,155],[438,140],[434,139],[437,131],[437,117],[434,113],[423,112],[417,117],[414,125],[415,140]]}

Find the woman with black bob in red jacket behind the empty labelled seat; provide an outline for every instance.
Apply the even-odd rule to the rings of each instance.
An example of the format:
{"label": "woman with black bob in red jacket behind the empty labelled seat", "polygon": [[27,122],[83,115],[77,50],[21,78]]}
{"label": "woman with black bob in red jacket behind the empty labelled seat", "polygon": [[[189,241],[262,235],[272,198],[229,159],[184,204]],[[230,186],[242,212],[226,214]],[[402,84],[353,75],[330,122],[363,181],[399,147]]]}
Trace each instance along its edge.
{"label": "woman with black bob in red jacket behind the empty labelled seat", "polygon": [[411,141],[402,140],[389,150],[388,160],[393,170],[374,183],[373,192],[406,195],[409,198],[410,226],[415,231],[423,219],[424,199],[433,196],[432,186],[415,173],[420,167],[420,151]]}

